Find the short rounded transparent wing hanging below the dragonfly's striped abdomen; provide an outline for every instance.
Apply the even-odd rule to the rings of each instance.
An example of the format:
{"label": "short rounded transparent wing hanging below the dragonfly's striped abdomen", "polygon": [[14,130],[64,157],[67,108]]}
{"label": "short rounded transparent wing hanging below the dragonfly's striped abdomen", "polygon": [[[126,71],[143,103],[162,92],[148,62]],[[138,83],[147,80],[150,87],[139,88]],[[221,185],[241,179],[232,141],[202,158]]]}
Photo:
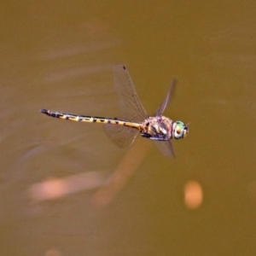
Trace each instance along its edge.
{"label": "short rounded transparent wing hanging below the dragonfly's striped abdomen", "polygon": [[125,148],[131,145],[137,136],[137,130],[127,126],[109,125],[103,126],[105,134],[119,148]]}

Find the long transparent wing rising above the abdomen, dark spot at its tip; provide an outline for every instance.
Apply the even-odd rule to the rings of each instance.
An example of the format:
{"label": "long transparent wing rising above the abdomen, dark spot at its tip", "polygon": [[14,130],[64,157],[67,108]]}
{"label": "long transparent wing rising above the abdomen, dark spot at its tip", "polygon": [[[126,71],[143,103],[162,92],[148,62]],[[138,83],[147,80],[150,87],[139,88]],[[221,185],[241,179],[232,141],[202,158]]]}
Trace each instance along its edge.
{"label": "long transparent wing rising above the abdomen, dark spot at its tip", "polygon": [[144,119],[148,119],[125,66],[118,64],[113,67],[113,83],[119,96],[120,117],[132,122],[143,122]]}

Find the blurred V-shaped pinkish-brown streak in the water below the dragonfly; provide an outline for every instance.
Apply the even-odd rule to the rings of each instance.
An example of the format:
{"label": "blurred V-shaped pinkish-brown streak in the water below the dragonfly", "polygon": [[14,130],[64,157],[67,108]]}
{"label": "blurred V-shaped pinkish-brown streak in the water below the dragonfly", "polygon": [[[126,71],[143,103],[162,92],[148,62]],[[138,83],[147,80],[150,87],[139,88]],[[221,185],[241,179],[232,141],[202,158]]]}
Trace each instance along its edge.
{"label": "blurred V-shaped pinkish-brown streak in the water below the dragonfly", "polygon": [[56,200],[84,190],[100,188],[93,196],[92,202],[96,206],[105,207],[129,182],[131,176],[148,155],[150,148],[150,146],[143,145],[143,140],[137,140],[108,178],[102,172],[84,172],[64,178],[50,177],[46,181],[33,183],[27,189],[26,195],[33,202],[38,203]]}

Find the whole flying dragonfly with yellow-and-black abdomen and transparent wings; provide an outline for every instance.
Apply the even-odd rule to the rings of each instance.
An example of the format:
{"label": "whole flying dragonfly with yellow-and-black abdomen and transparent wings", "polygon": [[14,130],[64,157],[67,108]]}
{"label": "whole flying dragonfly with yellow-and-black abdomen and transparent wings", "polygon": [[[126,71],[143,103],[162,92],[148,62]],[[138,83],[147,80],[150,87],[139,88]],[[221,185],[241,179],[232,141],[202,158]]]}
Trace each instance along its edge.
{"label": "whole flying dragonfly with yellow-and-black abdomen and transparent wings", "polygon": [[131,75],[124,65],[118,64],[113,67],[113,82],[118,93],[121,118],[79,115],[45,108],[41,109],[40,112],[58,119],[104,124],[106,135],[119,148],[131,145],[137,134],[140,133],[142,137],[153,140],[162,154],[173,157],[172,138],[181,139],[189,133],[188,125],[185,125],[182,121],[173,121],[162,115],[172,98],[177,83],[176,79],[172,79],[166,98],[153,116],[148,116],[137,96]]}

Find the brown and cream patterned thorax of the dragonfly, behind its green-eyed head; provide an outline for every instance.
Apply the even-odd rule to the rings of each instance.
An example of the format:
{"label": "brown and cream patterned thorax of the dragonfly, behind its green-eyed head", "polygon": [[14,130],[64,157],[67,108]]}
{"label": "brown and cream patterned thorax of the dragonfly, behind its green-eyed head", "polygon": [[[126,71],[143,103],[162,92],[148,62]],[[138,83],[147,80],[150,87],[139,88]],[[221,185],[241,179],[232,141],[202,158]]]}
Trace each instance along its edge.
{"label": "brown and cream patterned thorax of the dragonfly, behind its green-eyed head", "polygon": [[168,141],[172,138],[172,120],[165,116],[149,117],[143,122],[142,137],[157,141]]}

